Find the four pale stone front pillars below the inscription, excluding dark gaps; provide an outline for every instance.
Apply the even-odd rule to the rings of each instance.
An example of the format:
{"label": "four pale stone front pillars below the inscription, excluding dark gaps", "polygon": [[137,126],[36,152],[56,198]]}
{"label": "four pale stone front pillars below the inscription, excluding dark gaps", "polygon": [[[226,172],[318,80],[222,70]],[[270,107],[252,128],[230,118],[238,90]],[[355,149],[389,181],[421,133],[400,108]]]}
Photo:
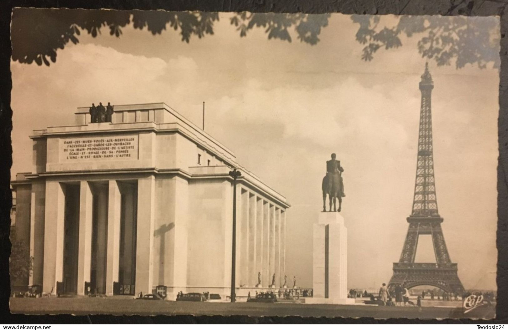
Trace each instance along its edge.
{"label": "four pale stone front pillars below the inscription, excluding dark gaps", "polygon": [[[65,184],[67,182],[46,182],[46,207],[44,223],[44,272],[43,291],[56,293],[56,282],[63,280],[64,226],[65,226]],[[75,184],[75,183],[74,183]],[[107,219],[98,226],[103,237],[107,237],[104,249],[105,292],[113,294],[113,282],[118,282],[120,258],[120,217],[121,191],[119,182],[107,182]],[[85,294],[85,282],[90,282],[92,251],[93,192],[91,182],[79,182],[79,244],[77,294]],[[137,221],[136,221],[136,292],[151,292],[153,285],[153,227],[154,194],[153,176],[137,180]],[[104,194],[105,195],[105,194]],[[105,197],[105,196],[104,196]],[[104,233],[106,230],[106,233]],[[101,236],[100,236],[101,237]],[[33,244],[33,240],[30,240]],[[34,251],[34,248],[30,249]]]}

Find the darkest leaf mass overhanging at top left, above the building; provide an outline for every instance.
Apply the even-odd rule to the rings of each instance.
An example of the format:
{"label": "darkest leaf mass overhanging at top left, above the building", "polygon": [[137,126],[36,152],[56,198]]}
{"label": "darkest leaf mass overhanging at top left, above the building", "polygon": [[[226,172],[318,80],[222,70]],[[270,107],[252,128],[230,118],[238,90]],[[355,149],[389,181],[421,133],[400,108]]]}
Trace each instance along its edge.
{"label": "darkest leaf mass overhanging at top left, above the building", "polygon": [[17,9],[12,15],[12,59],[49,65],[47,57],[55,62],[57,49],[79,42],[80,29],[95,38],[106,27],[110,35],[120,37],[122,27],[132,23],[134,28],[146,27],[157,35],[169,23],[170,28],[180,32],[182,41],[189,42],[192,36],[213,34],[216,20],[217,13],[205,12]]}

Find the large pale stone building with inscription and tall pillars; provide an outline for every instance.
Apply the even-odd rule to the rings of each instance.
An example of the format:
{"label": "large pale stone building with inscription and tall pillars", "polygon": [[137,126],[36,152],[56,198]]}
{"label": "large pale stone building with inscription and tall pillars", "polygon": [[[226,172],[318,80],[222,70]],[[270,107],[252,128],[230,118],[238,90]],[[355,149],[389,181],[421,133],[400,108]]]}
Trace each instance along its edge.
{"label": "large pale stone building with inscription and tall pillars", "polygon": [[[12,182],[16,230],[44,292],[225,294],[237,183],[237,286],[282,285],[285,198],[163,103],[115,106],[112,122],[35,130],[31,173]],[[270,283],[269,283],[270,282]]]}

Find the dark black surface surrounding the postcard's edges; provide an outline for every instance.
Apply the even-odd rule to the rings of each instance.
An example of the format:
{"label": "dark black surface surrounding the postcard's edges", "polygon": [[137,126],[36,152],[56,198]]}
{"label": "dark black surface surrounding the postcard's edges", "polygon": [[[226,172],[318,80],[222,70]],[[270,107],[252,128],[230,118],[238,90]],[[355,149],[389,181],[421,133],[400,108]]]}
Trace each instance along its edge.
{"label": "dark black surface surrounding the postcard's edges", "polygon": [[[508,19],[504,9],[508,0],[194,0],[194,1],[141,1],[141,0],[11,0],[0,3],[0,320],[2,323],[506,323],[508,321],[508,41],[505,33]],[[9,254],[11,244],[10,208],[12,195],[10,190],[10,168],[12,164],[11,130],[11,40],[10,22],[13,7],[37,8],[83,8],[83,9],[119,9],[119,10],[155,10],[171,11],[199,10],[221,12],[276,12],[276,13],[334,13],[342,14],[395,14],[395,15],[466,15],[501,17],[501,69],[499,84],[499,121],[498,142],[499,161],[497,172],[498,188],[498,231],[497,231],[497,319],[480,320],[407,320],[373,318],[302,318],[302,317],[247,317],[247,316],[72,316],[72,315],[15,315],[9,311],[10,279]],[[481,169],[479,169],[481,171]],[[479,219],[481,221],[481,219]],[[478,238],[481,239],[481,238]],[[474,244],[468,242],[464,244]]]}

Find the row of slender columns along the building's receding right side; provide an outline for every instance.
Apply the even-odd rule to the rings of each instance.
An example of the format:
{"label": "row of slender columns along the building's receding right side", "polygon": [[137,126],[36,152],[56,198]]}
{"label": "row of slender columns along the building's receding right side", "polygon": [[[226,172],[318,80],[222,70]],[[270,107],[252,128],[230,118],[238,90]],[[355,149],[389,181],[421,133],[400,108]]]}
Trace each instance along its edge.
{"label": "row of slender columns along the building's receding right side", "polygon": [[285,210],[259,195],[240,189],[237,195],[237,286],[255,287],[258,273],[268,287],[284,283]]}

